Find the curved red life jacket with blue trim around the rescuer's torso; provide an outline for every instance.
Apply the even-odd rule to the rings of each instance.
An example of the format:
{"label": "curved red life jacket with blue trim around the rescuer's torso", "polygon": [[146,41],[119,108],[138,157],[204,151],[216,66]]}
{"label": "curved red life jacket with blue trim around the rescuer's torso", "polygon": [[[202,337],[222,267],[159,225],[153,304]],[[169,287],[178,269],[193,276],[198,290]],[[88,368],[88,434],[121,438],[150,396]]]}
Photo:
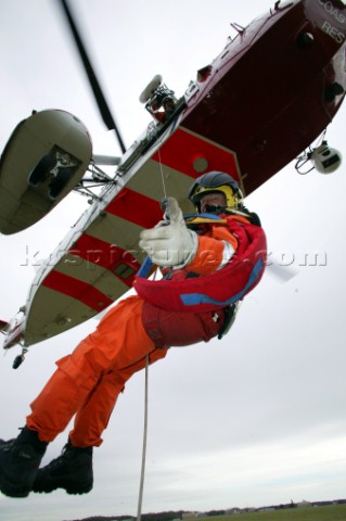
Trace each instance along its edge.
{"label": "curved red life jacket with blue trim around the rescuer's torso", "polygon": [[[170,312],[213,312],[226,307],[252,291],[261,279],[267,258],[267,241],[261,227],[226,217],[238,239],[230,262],[210,275],[172,280],[136,277],[137,293],[150,304]],[[216,220],[217,224],[217,220]]]}

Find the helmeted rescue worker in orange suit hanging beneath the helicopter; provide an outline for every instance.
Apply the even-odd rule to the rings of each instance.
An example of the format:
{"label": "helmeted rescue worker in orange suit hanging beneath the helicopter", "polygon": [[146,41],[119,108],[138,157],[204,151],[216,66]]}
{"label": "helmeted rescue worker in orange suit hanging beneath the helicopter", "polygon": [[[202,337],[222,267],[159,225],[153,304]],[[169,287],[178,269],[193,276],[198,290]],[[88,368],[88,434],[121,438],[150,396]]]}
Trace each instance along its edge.
{"label": "helmeted rescue worker in orange suit hanging beneath the helicopter", "polygon": [[[92,450],[102,443],[102,432],[127,380],[145,367],[146,356],[153,364],[164,358],[171,346],[221,338],[234,318],[239,298],[258,282],[264,269],[265,236],[257,215],[243,206],[239,185],[228,174],[212,171],[194,182],[189,198],[202,216],[192,218],[187,226],[172,200],[170,215],[166,216],[170,221],[166,219],[141,233],[140,247],[162,268],[163,280],[153,282],[138,278],[139,295],[129,296],[111,308],[95,331],[71,355],[56,363],[56,371],[30,404],[31,414],[20,435],[8,442],[0,441],[0,490],[3,494],[26,497],[30,491],[48,493],[64,488],[68,494],[91,491]],[[236,233],[230,227],[235,227]],[[247,234],[255,230],[254,237],[260,241],[246,239],[243,228]],[[242,233],[245,233],[246,247],[241,240]],[[260,270],[253,267],[255,260],[258,265],[258,259],[249,262],[248,255],[254,259],[260,256]],[[227,275],[230,297],[225,301],[220,293],[221,301],[218,301],[218,294],[209,294],[209,289],[223,291],[221,285],[227,284],[217,283],[217,277],[225,277],[232,263],[234,274],[249,269],[249,275],[244,281],[240,281],[239,275],[234,276],[241,284],[234,294],[232,276]],[[216,283],[208,282],[207,289],[203,289],[201,281],[210,276]],[[169,310],[167,301],[163,306],[156,305],[153,294],[161,294],[161,291],[152,294],[142,281],[168,283],[178,293],[180,284],[191,281],[193,288],[197,283],[198,292],[202,288],[206,294],[202,304],[192,304],[194,310],[189,308],[191,303],[181,310]],[[214,285],[219,288],[214,290]],[[48,443],[65,430],[74,416],[74,428],[62,455],[39,469]]]}

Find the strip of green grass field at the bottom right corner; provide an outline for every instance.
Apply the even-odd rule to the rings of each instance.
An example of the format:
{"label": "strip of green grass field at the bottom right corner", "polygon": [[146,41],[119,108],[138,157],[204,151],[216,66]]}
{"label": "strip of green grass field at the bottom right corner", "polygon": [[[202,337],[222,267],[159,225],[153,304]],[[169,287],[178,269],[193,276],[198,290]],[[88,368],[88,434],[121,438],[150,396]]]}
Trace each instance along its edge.
{"label": "strip of green grass field at the bottom right corner", "polygon": [[206,519],[208,521],[346,521],[346,505],[287,508],[270,512],[239,513]]}

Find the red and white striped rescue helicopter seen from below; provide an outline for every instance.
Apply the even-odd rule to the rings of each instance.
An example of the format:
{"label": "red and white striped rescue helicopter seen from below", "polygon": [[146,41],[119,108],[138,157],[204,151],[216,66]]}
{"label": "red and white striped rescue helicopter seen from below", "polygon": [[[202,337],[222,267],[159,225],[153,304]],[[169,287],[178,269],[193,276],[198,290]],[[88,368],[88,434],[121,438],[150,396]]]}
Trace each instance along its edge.
{"label": "red and white striped rescue helicopter seen from below", "polygon": [[[152,120],[129,149],[66,1],[62,7],[91,72],[103,119],[118,135],[123,155],[94,155],[89,131],[64,111],[31,114],[5,145],[0,163],[0,232],[31,226],[71,190],[90,201],[36,274],[20,318],[1,322],[3,347],[22,344],[21,360],[29,345],[98,315],[132,287],[143,263],[139,232],[162,217],[163,183],[191,212],[188,188],[208,170],[229,173],[248,195],[294,158],[300,173],[311,164],[309,168],[329,174],[341,163],[324,131],[345,97],[343,2],[277,1],[248,26],[233,24],[236,36],[197,71],[181,98],[155,75],[140,96]],[[273,47],[277,52],[269,52]],[[254,78],[260,105],[253,96]],[[320,136],[320,143],[311,147]],[[104,164],[116,167],[113,177],[102,170]],[[93,193],[90,185],[103,188]],[[137,209],[141,207],[144,215]]]}

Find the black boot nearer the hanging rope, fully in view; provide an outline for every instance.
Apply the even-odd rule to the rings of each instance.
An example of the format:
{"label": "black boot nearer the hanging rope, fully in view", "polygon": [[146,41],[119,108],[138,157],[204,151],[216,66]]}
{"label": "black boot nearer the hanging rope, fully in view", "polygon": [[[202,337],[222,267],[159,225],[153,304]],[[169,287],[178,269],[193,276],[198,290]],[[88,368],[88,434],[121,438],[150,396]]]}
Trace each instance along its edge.
{"label": "black boot nearer the hanging rope, fully in view", "polygon": [[33,492],[65,488],[67,494],[86,494],[92,484],[92,447],[74,447],[68,441],[61,456],[38,471]]}

